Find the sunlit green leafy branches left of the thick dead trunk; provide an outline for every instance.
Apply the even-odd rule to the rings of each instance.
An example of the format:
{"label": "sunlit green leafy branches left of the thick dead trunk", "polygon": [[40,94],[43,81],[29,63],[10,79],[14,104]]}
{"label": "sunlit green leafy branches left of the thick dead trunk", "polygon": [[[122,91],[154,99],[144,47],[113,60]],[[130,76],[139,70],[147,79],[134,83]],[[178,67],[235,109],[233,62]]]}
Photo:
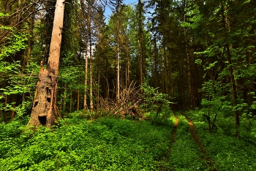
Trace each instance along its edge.
{"label": "sunlit green leafy branches left of the thick dead trunk", "polygon": [[[7,37],[0,53],[0,96],[2,99],[0,110],[14,110],[18,117],[21,117],[30,108],[31,96],[33,96],[37,82],[37,76],[35,77],[34,74],[38,73],[39,67],[32,61],[29,66],[22,66],[21,61],[15,60],[17,53],[26,49],[30,35],[26,34],[25,30],[17,28],[1,26],[1,29],[10,30],[10,37]],[[22,96],[23,98],[20,99],[19,104],[10,100],[5,104],[5,98],[10,98],[10,96]]]}

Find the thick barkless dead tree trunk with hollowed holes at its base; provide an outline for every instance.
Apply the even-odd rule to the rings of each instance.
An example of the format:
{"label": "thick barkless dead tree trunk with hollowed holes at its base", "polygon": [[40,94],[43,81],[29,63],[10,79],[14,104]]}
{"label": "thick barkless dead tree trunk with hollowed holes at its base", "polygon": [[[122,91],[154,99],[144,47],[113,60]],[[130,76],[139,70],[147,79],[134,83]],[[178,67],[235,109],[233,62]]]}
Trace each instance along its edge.
{"label": "thick barkless dead tree trunk with hollowed holes at its base", "polygon": [[53,32],[50,41],[50,54],[47,69],[41,62],[39,80],[34,95],[34,102],[29,120],[29,126],[52,126],[56,121],[56,92],[59,72],[59,57],[61,52],[61,33],[64,18],[64,0],[56,1],[53,20]]}

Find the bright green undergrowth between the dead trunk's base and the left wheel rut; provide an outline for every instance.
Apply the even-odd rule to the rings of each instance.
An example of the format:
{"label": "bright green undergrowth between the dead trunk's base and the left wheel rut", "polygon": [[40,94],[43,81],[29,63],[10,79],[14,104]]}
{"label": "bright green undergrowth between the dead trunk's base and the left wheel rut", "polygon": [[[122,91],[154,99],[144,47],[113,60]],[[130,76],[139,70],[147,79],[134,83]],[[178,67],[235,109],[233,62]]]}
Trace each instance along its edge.
{"label": "bright green undergrowth between the dead trunk's base and the left wheel rut", "polygon": [[172,127],[149,121],[66,118],[53,129],[0,124],[0,170],[156,170]]}

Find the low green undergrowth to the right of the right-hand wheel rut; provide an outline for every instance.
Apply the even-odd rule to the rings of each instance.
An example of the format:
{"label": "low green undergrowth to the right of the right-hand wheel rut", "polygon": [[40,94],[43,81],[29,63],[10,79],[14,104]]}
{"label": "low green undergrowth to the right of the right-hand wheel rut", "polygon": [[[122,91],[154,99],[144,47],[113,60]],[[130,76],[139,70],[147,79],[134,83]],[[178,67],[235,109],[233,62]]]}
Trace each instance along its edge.
{"label": "low green undergrowth to the right of the right-hand wheel rut", "polygon": [[[216,170],[255,170],[256,147],[253,130],[246,131],[241,118],[240,137],[236,137],[235,121],[219,113],[216,121],[217,132],[208,132],[208,123],[203,118],[204,110],[185,113],[195,124],[200,141],[214,160]],[[252,120],[252,125],[255,122]]]}

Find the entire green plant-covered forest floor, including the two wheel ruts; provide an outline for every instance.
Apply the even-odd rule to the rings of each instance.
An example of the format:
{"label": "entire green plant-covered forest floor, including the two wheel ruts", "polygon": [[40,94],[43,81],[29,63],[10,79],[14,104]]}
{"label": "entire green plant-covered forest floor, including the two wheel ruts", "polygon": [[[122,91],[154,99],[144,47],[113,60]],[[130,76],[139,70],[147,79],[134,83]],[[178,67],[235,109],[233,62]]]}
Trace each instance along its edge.
{"label": "entire green plant-covered forest floor, including the two wheel ruts", "polygon": [[255,145],[221,129],[208,133],[207,123],[195,114],[170,114],[152,123],[113,117],[88,121],[72,113],[53,129],[36,131],[25,129],[27,120],[0,123],[0,170],[256,168]]}

